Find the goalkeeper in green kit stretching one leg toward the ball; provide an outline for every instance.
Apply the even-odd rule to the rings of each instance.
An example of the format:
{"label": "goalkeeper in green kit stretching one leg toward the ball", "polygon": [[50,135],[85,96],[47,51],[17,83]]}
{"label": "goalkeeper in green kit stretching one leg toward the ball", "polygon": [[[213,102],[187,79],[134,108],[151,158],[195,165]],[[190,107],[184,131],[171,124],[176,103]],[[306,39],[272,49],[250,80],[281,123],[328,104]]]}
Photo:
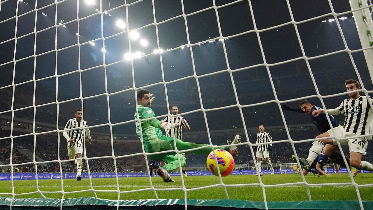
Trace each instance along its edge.
{"label": "goalkeeper in green kit stretching one leg toward the ball", "polygon": [[[148,90],[141,89],[137,91],[137,101],[140,103],[138,105],[138,114],[135,112],[134,118],[139,118],[140,120],[145,120],[151,117],[156,117],[153,110],[150,108],[151,103],[154,101],[153,94],[150,94]],[[164,129],[166,132],[172,127],[179,126],[177,123],[167,123],[161,122],[157,119],[145,120],[141,121],[141,130],[139,126],[139,121],[136,122],[136,131],[137,135],[140,137],[140,132],[142,131],[142,142],[144,143],[145,152],[160,152],[160,151],[168,151],[175,149],[174,141],[176,142],[176,148],[178,150],[185,150],[185,149],[193,149],[198,148],[201,146],[206,146],[208,144],[200,144],[200,143],[191,143],[191,142],[183,142],[179,139],[174,139],[173,137],[168,137],[162,135],[162,131],[160,129]],[[241,143],[241,137],[239,135],[235,136],[235,139],[231,142],[228,141],[228,144],[236,144]],[[225,149],[229,151],[233,157],[237,156],[237,146],[232,145],[228,147],[219,147],[215,149]],[[194,153],[194,154],[209,154],[212,151],[211,147],[205,147],[194,151],[189,151],[186,153]],[[149,155],[151,160],[154,161],[164,161],[165,165],[157,169],[157,175],[162,177],[164,182],[175,182],[169,175],[169,171],[175,170],[179,168],[179,161],[178,157],[181,161],[181,166],[185,164],[185,157],[182,154],[176,154],[176,152],[167,152],[162,154],[155,154]]]}

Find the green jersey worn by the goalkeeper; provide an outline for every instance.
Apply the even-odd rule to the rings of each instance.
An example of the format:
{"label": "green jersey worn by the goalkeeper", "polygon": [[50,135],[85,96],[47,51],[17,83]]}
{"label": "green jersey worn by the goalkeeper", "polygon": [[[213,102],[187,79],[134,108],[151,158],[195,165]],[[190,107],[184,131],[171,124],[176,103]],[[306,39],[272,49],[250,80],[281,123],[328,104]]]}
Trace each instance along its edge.
{"label": "green jersey worn by the goalkeeper", "polygon": [[[150,107],[139,105],[138,112],[139,112],[140,120],[144,120],[144,119],[148,119],[148,118],[156,116]],[[137,119],[137,112],[135,112],[134,118]],[[160,123],[161,122],[157,119],[141,121],[142,141],[144,142],[145,150],[149,149],[147,152],[153,152],[151,151],[153,149],[147,148],[147,144],[151,140],[156,140],[162,136],[162,131],[160,129]],[[136,133],[141,139],[140,126],[138,122],[136,122]]]}

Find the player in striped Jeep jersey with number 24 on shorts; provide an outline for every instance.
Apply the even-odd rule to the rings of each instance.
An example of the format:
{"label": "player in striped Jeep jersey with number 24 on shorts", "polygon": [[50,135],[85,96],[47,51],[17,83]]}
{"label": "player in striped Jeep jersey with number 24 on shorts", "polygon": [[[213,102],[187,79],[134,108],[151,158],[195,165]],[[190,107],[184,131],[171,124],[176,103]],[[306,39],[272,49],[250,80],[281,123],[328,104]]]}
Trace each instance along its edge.
{"label": "player in striped Jeep jersey with number 24 on shorts", "polygon": [[[360,83],[357,80],[346,80],[345,82],[347,92],[361,89]],[[361,156],[366,155],[366,148],[368,146],[368,138],[372,136],[360,137],[360,135],[370,134],[373,124],[373,110],[372,104],[367,96],[360,96],[359,92],[348,93],[349,99],[342,101],[335,109],[327,109],[328,114],[345,114],[344,127],[335,127],[327,132],[317,136],[316,138],[336,136],[338,138],[349,138],[347,140],[340,140],[341,145],[348,145],[350,149],[350,165],[357,169],[354,173],[356,176],[358,170],[364,169],[373,171],[373,165],[367,161],[362,161]],[[317,109],[313,111],[313,115],[317,117],[324,109]],[[325,139],[329,145],[324,148],[324,154],[330,157],[333,151],[338,150],[337,140]]]}

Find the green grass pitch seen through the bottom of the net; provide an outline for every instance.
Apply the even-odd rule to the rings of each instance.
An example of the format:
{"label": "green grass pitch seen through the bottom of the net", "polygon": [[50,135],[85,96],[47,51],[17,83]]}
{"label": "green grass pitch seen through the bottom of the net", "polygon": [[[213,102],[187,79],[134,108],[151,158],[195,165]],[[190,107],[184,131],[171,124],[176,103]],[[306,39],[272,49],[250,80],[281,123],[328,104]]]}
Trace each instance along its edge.
{"label": "green grass pitch seen through the bottom of the net", "polygon": [[[173,177],[175,183],[164,183],[160,177],[152,177],[155,191],[160,199],[167,198],[184,198],[182,189],[172,190],[173,188],[182,188],[181,177]],[[276,174],[261,176],[264,185],[275,185],[284,183],[302,182],[302,178],[298,174]],[[305,177],[308,183],[351,183],[348,174],[338,176],[314,176],[308,174]],[[193,189],[187,191],[188,199],[226,199],[226,194],[222,186],[214,186],[206,189],[198,189],[204,186],[220,184],[217,176],[189,176],[184,179],[185,188]],[[373,174],[359,174],[355,177],[357,184],[373,183]],[[140,199],[156,199],[154,191],[150,188],[148,177],[133,177],[119,178],[120,200],[140,200]],[[227,185],[237,184],[253,184],[259,183],[258,177],[255,175],[231,175],[223,177],[223,183]],[[47,198],[62,198],[61,180],[39,180],[38,186],[43,195]],[[115,178],[92,179],[92,186],[95,190],[117,190]],[[63,190],[66,192],[64,198],[78,197],[95,197],[92,191],[73,192],[90,190],[89,179],[64,179]],[[251,201],[263,201],[263,188],[261,186],[227,186],[227,192],[230,199],[241,199]],[[141,190],[141,191],[135,191]],[[59,191],[59,192],[58,192]],[[135,191],[135,192],[133,192]],[[277,187],[265,187],[267,201],[302,201],[308,200],[306,187],[304,185],[285,185]],[[360,187],[360,195],[362,200],[373,200],[373,187]],[[0,182],[0,193],[11,193],[11,181]],[[27,195],[16,195],[17,198],[42,198],[37,192],[36,180],[19,180],[14,181],[14,192],[16,194],[35,192]],[[357,192],[352,185],[338,186],[310,186],[312,200],[357,200]],[[116,200],[117,192],[96,192],[98,198]],[[3,195],[2,197],[11,197],[11,195]]]}

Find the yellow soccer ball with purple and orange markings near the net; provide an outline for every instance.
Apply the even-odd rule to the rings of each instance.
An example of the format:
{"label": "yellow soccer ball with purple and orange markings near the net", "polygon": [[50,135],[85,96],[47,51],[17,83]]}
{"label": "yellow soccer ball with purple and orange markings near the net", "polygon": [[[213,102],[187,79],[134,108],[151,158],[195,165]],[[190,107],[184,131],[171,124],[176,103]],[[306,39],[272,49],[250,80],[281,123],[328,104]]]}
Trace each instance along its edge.
{"label": "yellow soccer ball with purple and orange markings near the net", "polygon": [[230,175],[234,169],[234,160],[231,153],[224,149],[215,149],[215,153],[218,166],[216,166],[214,151],[211,151],[206,161],[207,168],[215,176],[219,176],[219,173],[217,172],[218,169],[220,171],[220,175]]}

